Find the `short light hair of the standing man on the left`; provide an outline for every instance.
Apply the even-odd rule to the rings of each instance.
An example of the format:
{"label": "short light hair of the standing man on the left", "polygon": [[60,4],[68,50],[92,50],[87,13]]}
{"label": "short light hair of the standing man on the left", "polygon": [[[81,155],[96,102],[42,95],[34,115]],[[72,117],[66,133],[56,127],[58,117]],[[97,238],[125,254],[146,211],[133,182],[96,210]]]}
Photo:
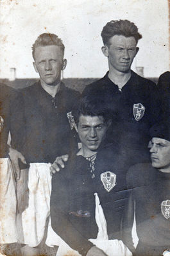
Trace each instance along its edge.
{"label": "short light hair of the standing man on the left", "polygon": [[64,54],[64,44],[62,40],[55,34],[43,33],[37,37],[35,43],[32,46],[33,58],[35,57],[35,48],[38,46],[59,46]]}

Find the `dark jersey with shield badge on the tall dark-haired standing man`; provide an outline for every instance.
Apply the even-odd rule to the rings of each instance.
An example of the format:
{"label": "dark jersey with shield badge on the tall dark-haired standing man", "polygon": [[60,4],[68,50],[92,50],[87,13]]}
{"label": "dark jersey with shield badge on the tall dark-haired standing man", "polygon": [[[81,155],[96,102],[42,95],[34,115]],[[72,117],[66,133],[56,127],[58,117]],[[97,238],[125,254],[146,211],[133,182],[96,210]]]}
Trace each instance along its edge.
{"label": "dark jersey with shield badge on the tall dark-haired standing man", "polygon": [[[158,120],[160,100],[155,83],[132,72],[130,80],[121,91],[109,78],[108,73],[98,81],[87,85],[83,96],[92,94],[102,97],[118,112],[119,123],[113,126],[119,136],[122,148],[139,162],[148,160],[149,128]],[[112,141],[114,135],[110,134]],[[144,157],[146,155],[146,157]]]}

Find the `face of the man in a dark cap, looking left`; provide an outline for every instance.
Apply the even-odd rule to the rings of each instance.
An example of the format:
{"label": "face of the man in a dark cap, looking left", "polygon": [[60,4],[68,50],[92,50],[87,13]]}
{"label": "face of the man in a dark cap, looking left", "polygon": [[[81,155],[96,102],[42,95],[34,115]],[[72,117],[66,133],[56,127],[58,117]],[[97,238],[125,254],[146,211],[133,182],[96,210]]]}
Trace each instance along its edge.
{"label": "face of the man in a dark cap, looking left", "polygon": [[152,166],[170,171],[170,141],[154,137],[148,147],[150,148]]}

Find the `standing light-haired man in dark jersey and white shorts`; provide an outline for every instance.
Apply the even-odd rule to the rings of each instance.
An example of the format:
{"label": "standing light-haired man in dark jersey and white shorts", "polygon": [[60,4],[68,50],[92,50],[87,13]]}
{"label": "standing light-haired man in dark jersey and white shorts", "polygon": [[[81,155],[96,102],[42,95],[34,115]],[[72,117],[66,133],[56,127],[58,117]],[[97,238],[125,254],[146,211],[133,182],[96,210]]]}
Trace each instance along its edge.
{"label": "standing light-haired man in dark jersey and white shorts", "polygon": [[[33,66],[40,81],[21,90],[26,130],[21,152],[27,164],[30,164],[30,194],[28,208],[21,216],[24,236],[21,243],[36,247],[44,237],[49,216],[51,176],[47,165],[54,162],[58,155],[65,155],[77,148],[67,115],[78,100],[79,93],[68,89],[61,81],[67,60],[60,38],[55,34],[44,33],[37,38],[32,50]],[[25,253],[30,256],[33,250]]]}

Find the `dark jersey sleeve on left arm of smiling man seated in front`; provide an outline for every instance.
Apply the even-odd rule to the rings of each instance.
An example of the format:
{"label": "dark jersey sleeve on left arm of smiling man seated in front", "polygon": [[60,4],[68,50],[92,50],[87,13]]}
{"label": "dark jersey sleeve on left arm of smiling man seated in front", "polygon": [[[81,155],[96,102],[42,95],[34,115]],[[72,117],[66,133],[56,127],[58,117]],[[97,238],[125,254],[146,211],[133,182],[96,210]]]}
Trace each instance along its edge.
{"label": "dark jersey sleeve on left arm of smiling man seated in front", "polygon": [[52,180],[50,203],[51,226],[56,234],[60,235],[65,243],[69,244],[72,249],[78,251],[81,255],[86,255],[93,244],[74,228],[67,217],[69,191],[67,185],[64,184],[66,184],[64,176],[56,173]]}

